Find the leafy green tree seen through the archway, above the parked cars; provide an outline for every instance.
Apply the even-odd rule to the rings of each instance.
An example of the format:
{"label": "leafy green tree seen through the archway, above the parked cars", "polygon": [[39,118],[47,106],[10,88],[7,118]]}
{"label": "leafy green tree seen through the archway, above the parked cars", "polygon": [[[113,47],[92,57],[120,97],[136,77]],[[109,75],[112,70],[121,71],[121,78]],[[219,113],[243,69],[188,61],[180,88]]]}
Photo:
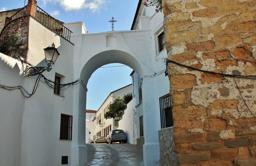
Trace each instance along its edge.
{"label": "leafy green tree seen through the archway, above the parked cars", "polygon": [[127,93],[123,98],[118,96],[113,103],[109,105],[109,111],[105,113],[105,119],[112,119],[122,117],[124,110],[127,108],[127,103],[132,100],[132,93]]}

